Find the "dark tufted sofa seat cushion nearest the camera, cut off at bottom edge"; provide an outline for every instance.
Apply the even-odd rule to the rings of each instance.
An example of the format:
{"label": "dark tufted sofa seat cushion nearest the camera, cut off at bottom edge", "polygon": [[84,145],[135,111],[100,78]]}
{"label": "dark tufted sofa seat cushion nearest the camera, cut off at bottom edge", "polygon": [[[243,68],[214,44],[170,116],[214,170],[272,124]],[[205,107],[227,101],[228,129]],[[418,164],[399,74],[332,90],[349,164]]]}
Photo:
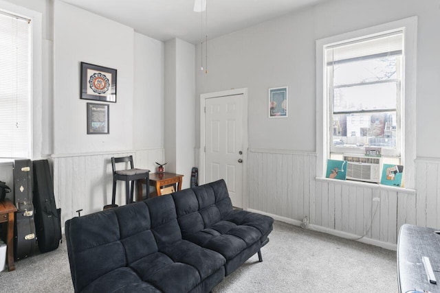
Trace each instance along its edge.
{"label": "dark tufted sofa seat cushion nearest the camera, cut off at bottom edge", "polygon": [[131,270],[131,268],[118,268],[102,275],[93,283],[90,283],[84,290],[88,292],[143,292],[159,293],[153,285],[146,283]]}

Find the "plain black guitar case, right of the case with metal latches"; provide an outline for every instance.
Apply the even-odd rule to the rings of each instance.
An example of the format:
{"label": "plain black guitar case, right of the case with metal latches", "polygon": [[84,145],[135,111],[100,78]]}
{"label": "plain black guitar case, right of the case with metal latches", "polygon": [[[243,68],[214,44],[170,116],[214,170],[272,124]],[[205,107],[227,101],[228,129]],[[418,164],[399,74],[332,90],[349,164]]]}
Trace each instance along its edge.
{"label": "plain black guitar case, right of the case with metal latches", "polygon": [[36,237],[41,253],[55,250],[61,241],[61,209],[56,209],[49,161],[34,161]]}

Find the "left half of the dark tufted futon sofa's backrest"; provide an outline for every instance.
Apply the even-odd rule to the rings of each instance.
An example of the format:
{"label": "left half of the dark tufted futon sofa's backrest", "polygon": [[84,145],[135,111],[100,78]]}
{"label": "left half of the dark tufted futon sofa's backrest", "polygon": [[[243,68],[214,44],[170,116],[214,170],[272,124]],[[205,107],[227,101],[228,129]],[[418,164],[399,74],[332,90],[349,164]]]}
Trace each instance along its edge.
{"label": "left half of the dark tufted futon sofa's backrest", "polygon": [[112,270],[129,266],[181,240],[171,196],[135,202],[66,222],[76,292]]}

